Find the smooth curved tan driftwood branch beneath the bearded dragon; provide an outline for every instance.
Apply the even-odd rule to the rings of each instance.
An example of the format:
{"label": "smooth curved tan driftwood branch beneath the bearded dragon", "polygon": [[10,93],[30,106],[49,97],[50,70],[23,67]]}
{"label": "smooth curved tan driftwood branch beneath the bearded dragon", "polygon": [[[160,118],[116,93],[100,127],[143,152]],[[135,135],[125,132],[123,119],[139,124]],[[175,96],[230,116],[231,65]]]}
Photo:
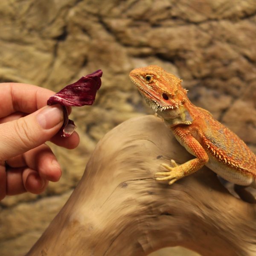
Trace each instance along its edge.
{"label": "smooth curved tan driftwood branch beneath the bearded dragon", "polygon": [[98,143],[79,185],[28,256],[140,256],[183,246],[207,256],[256,255],[255,206],[204,168],[172,186],[161,163],[192,156],[155,116],[130,119]]}

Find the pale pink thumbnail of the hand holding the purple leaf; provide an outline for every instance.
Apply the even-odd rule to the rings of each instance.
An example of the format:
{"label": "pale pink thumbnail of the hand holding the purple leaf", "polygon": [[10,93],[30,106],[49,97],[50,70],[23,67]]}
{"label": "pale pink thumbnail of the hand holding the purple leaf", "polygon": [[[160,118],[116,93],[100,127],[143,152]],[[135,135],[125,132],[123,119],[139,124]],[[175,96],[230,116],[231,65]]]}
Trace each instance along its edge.
{"label": "pale pink thumbnail of the hand holding the purple leaf", "polygon": [[64,119],[62,108],[59,105],[47,106],[38,113],[36,119],[43,129],[53,128]]}

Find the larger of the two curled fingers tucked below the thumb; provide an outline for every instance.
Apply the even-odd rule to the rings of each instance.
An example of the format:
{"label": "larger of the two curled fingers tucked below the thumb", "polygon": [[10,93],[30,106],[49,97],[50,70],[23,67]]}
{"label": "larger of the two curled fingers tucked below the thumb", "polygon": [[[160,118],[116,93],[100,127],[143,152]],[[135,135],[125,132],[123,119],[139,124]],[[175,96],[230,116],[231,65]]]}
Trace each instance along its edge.
{"label": "larger of the two curled fingers tucked below the thumb", "polygon": [[41,178],[58,181],[61,177],[59,165],[52,150],[45,144],[24,153],[26,165],[38,172]]}

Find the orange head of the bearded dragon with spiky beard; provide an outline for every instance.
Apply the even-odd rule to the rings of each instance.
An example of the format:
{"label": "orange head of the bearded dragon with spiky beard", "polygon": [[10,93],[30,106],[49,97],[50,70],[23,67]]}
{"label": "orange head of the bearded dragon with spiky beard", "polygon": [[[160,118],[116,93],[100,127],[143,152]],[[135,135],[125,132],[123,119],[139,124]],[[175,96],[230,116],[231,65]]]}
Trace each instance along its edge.
{"label": "orange head of the bearded dragon with spiky beard", "polygon": [[181,79],[156,65],[134,69],[130,78],[147,104],[163,118],[175,118],[180,113],[179,108],[187,99]]}

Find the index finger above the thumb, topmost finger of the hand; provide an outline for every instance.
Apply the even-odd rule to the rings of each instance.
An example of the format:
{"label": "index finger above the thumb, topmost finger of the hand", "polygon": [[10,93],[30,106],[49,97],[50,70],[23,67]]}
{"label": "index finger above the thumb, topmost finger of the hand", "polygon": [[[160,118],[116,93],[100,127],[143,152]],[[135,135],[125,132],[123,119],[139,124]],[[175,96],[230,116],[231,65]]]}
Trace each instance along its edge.
{"label": "index finger above the thumb, topmost finger of the hand", "polygon": [[9,116],[17,111],[33,113],[47,105],[47,100],[55,94],[52,90],[32,84],[0,84],[0,117]]}

